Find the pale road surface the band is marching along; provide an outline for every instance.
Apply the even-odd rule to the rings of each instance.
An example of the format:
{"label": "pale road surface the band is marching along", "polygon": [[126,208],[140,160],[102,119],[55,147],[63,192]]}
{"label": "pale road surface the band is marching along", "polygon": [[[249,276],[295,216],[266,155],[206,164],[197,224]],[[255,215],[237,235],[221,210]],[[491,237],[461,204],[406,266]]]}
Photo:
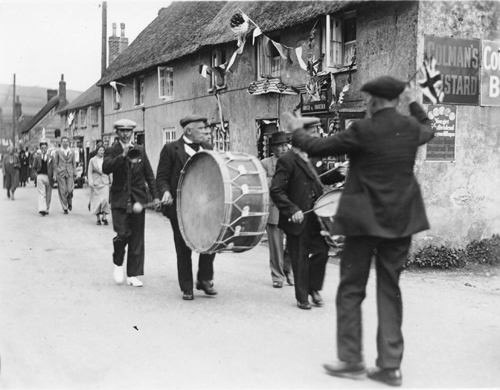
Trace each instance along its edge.
{"label": "pale road surface the band is marching along", "polygon": [[[3,190],[2,190],[3,191]],[[172,232],[146,217],[143,288],[112,279],[111,226],[96,226],[88,188],[62,213],[37,213],[33,184],[0,196],[1,388],[384,388],[324,374],[334,361],[338,265],[326,306],[273,289],[267,248],[216,257],[219,295],[185,302]],[[500,276],[405,273],[403,387],[500,387]],[[375,285],[364,304],[365,358],[376,358]]]}

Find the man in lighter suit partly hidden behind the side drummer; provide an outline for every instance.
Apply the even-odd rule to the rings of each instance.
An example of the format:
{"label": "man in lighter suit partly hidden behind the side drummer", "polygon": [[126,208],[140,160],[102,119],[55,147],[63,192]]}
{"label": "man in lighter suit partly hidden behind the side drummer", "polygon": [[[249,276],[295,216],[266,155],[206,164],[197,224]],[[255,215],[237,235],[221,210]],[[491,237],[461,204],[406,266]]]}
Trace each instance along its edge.
{"label": "man in lighter suit partly hidden behind the side drummer", "polygon": [[[276,131],[271,134],[269,146],[273,152],[271,157],[264,158],[260,161],[262,167],[266,171],[267,184],[271,187],[271,180],[276,172],[276,164],[278,159],[288,151],[289,135],[284,131]],[[271,278],[274,288],[283,287],[283,282],[286,281],[290,286],[293,286],[293,273],[290,256],[283,250],[284,232],[278,227],[279,210],[269,200],[269,216],[267,218],[267,240],[269,244],[269,265],[271,266]]]}

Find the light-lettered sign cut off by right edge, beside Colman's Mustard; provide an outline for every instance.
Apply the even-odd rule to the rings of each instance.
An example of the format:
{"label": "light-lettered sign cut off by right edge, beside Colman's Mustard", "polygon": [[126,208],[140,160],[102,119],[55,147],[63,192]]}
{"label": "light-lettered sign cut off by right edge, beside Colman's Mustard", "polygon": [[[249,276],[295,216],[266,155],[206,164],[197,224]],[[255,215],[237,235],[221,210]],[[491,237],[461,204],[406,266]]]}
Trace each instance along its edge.
{"label": "light-lettered sign cut off by right edge, beside Colman's Mustard", "polygon": [[500,42],[482,41],[481,105],[500,106]]}

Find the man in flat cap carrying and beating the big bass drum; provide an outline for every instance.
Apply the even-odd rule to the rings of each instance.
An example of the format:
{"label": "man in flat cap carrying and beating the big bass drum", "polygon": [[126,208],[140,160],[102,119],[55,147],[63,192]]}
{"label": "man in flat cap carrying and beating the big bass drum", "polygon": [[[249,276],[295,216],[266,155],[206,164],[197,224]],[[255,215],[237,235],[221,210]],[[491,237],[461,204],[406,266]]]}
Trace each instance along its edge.
{"label": "man in flat cap carrying and beating the big bass drum", "polygon": [[[176,212],[177,186],[182,168],[190,156],[198,150],[211,150],[212,146],[205,142],[210,129],[206,126],[206,118],[190,115],[180,120],[184,134],[177,141],[167,143],[160,154],[156,183],[162,203],[163,214],[170,219],[174,232],[175,251],[177,252],[177,274],[179,286],[183,292],[182,299],[191,301],[193,295],[193,266],[191,249],[186,245],[179,229]],[[194,212],[194,211],[193,211]],[[212,279],[214,274],[213,262],[215,254],[200,254],[196,288],[203,290],[207,295],[216,295]]]}

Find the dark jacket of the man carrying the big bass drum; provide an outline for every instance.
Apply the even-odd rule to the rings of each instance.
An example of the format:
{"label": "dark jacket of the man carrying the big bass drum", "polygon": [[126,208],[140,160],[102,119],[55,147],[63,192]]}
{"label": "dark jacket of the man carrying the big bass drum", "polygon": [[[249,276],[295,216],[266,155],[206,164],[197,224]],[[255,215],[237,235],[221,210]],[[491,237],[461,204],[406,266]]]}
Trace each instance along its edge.
{"label": "dark jacket of the man carrying the big bass drum", "polygon": [[[179,184],[179,177],[182,168],[189,159],[189,155],[184,148],[184,138],[181,137],[177,141],[166,144],[160,153],[160,161],[158,162],[158,169],[156,171],[156,184],[158,186],[158,193],[160,199],[163,194],[168,191],[172,195],[173,202],[170,206],[163,207],[163,215],[168,218],[177,218],[176,211],[176,198],[177,198],[177,185]],[[201,146],[205,150],[212,150],[212,145],[202,142]]]}

